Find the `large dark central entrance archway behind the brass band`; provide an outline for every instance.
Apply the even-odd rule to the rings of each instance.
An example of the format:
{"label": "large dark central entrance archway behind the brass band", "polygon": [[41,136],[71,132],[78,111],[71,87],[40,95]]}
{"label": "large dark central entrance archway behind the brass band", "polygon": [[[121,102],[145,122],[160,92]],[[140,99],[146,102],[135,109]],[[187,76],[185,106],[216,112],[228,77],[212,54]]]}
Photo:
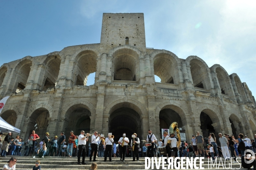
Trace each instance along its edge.
{"label": "large dark central entrance archway behind the brass band", "polygon": [[[118,141],[123,133],[126,133],[129,140],[132,139],[132,134],[136,133],[141,140],[141,118],[139,114],[128,107],[116,109],[109,117],[109,133],[115,136],[114,141]],[[105,134],[105,136],[107,135]]]}

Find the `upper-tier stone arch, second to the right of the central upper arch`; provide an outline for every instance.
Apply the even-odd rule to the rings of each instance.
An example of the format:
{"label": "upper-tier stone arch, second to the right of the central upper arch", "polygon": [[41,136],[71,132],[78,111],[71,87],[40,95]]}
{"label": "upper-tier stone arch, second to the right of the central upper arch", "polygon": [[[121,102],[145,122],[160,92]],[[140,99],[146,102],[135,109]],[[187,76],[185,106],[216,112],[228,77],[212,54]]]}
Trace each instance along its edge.
{"label": "upper-tier stone arch, second to the right of the central upper arch", "polygon": [[203,89],[212,88],[210,69],[201,58],[197,56],[189,56],[186,58],[185,63],[187,66],[190,65],[188,75],[192,78],[195,87]]}

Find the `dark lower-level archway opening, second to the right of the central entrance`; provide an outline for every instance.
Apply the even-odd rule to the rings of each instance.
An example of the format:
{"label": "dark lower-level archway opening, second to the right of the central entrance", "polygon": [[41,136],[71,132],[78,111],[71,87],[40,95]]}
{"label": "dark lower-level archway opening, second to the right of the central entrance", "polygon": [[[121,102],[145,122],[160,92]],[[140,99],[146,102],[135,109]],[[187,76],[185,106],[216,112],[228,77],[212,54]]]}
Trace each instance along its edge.
{"label": "dark lower-level archway opening, second to the right of the central entrance", "polygon": [[214,133],[216,137],[215,129],[212,126],[212,119],[209,117],[209,115],[207,115],[205,112],[201,112],[200,122],[201,122],[200,128],[202,130],[202,133],[203,133],[202,135],[204,138],[206,137],[208,138],[209,133]]}

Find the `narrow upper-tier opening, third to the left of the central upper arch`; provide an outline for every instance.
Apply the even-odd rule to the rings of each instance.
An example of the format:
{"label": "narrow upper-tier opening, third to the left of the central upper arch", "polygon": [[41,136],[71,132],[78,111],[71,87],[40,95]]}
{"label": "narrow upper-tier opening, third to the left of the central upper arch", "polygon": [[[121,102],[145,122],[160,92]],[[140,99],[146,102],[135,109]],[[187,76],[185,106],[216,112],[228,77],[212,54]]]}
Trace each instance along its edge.
{"label": "narrow upper-tier opening, third to the left of the central upper arch", "polygon": [[16,67],[16,81],[15,81],[15,88],[13,92],[20,92],[21,90],[25,89],[27,79],[29,78],[30,67],[32,66],[32,61],[30,60],[23,60],[21,61],[18,66]]}

